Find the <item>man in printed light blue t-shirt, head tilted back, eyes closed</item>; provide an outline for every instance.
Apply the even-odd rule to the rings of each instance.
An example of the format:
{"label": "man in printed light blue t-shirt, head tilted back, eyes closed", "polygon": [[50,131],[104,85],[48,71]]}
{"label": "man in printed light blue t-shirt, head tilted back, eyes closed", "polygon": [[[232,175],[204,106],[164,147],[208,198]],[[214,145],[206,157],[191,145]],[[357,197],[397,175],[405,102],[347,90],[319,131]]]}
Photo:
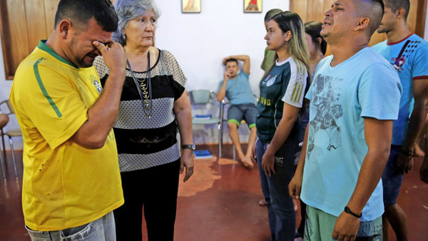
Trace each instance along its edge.
{"label": "man in printed light blue t-shirt, head tilted back, eyes closed", "polygon": [[307,93],[310,123],[289,185],[307,204],[305,240],[382,240],[380,178],[402,93],[394,68],[368,46],[383,12],[382,0],[335,1],[325,12],[332,56]]}

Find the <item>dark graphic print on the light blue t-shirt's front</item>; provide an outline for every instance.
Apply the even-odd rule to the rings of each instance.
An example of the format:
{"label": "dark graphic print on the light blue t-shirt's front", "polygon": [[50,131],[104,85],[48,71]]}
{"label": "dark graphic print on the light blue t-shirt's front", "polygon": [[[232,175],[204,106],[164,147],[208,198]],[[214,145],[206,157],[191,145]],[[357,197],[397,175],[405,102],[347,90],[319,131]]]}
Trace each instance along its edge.
{"label": "dark graphic print on the light blue t-shirt's front", "polygon": [[[343,116],[343,108],[339,100],[341,90],[332,88],[332,81],[343,81],[342,78],[333,79],[331,76],[322,76],[319,74],[315,78],[312,86],[311,102],[315,106],[315,117],[310,120],[310,129],[313,135],[310,135],[307,145],[307,155],[320,155],[325,150],[337,149],[342,145],[340,139],[340,126],[337,125],[337,119]],[[313,110],[313,108],[312,108]],[[311,111],[312,111],[311,110]],[[315,141],[322,138],[324,141]],[[327,142],[325,141],[327,140]],[[324,146],[317,146],[315,143],[327,143]],[[315,160],[315,158],[314,158]]]}

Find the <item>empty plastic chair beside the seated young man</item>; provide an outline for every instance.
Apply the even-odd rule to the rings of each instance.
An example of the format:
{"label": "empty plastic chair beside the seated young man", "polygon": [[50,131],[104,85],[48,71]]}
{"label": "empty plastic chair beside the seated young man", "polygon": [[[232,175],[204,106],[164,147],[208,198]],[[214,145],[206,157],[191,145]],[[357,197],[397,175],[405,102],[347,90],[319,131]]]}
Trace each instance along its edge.
{"label": "empty plastic chair beside the seated young man", "polygon": [[[192,121],[193,121],[193,125],[217,124],[218,126],[218,158],[221,158],[221,147],[223,145],[224,101],[219,103],[217,101],[217,97],[215,96],[215,93],[210,90],[189,91],[188,95],[190,97],[190,104],[193,107],[200,106],[200,108],[203,108],[203,111],[205,114],[209,114],[208,111],[210,110],[210,107],[211,109],[213,109],[212,107],[214,107],[215,109],[218,109],[218,117],[211,115],[205,118],[195,118],[195,116],[193,116]],[[198,108],[198,110],[200,108]]]}

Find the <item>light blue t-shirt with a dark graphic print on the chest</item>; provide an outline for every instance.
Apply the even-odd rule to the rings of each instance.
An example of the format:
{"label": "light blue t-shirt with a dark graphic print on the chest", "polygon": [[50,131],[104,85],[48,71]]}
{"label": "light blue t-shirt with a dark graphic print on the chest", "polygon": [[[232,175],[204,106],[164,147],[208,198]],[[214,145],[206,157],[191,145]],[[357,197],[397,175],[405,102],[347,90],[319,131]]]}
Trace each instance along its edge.
{"label": "light blue t-shirt with a dark graphic print on the chest", "polygon": [[[363,48],[331,67],[333,56],[318,63],[310,99],[309,134],[301,198],[339,216],[349,202],[367,154],[364,118],[394,120],[402,86],[391,65],[374,49]],[[360,221],[384,212],[379,181]]]}

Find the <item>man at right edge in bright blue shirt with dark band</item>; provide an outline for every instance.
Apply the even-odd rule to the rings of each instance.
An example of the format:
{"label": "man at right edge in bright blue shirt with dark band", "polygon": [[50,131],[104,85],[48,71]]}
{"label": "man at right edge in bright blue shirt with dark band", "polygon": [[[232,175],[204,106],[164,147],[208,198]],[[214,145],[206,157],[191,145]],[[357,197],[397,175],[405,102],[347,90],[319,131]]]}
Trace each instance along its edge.
{"label": "man at right edge in bright blue shirt with dark band", "polygon": [[418,136],[427,117],[428,101],[428,43],[407,29],[409,0],[385,0],[385,12],[378,33],[387,40],[373,48],[389,61],[399,75],[403,95],[399,102],[398,119],[392,125],[391,153],[382,175],[384,207],[384,236],[388,222],[397,240],[407,240],[406,215],[397,204],[404,173],[408,173],[416,156]]}

